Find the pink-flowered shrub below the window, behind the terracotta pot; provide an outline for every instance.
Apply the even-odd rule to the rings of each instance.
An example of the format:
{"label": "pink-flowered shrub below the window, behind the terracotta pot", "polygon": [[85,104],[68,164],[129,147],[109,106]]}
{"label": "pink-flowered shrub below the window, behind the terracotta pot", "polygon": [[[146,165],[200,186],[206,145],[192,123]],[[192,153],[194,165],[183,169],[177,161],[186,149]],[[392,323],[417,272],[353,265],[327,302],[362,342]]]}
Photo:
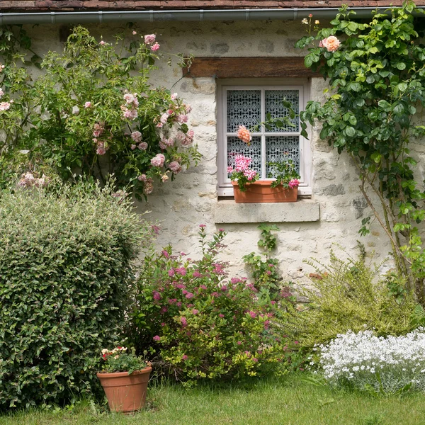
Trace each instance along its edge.
{"label": "pink-flowered shrub below the window, behind the terracotta pot", "polygon": [[[145,258],[140,271],[135,345],[179,380],[258,375],[285,363],[274,320],[287,302],[246,278],[229,278],[217,259],[225,232],[208,242],[199,229],[200,260],[171,246]],[[155,359],[154,359],[155,360]]]}

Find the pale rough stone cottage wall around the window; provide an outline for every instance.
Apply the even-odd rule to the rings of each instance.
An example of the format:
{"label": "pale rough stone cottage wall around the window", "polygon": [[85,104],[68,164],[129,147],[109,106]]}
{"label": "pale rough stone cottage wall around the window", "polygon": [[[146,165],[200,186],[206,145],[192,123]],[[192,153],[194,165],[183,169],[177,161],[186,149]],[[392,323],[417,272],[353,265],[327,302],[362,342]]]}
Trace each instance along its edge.
{"label": "pale rough stone cottage wall around the window", "polygon": [[[132,37],[132,30],[125,26],[92,25],[89,29],[96,38],[103,35],[106,41],[112,41],[112,35],[119,31]],[[302,55],[293,46],[305,30],[297,21],[164,22],[138,25],[135,29],[139,34],[157,33],[162,52],[229,57]],[[43,52],[46,47],[60,49],[60,39],[67,33],[67,28],[40,26],[28,28],[28,31],[33,37],[34,50]],[[181,69],[177,65],[166,67],[166,60],[163,62],[154,83],[169,89],[172,87],[173,92],[179,93],[193,107],[188,124],[195,131],[203,159],[197,168],[189,169],[176,181],[156,190],[148,203],[137,206],[140,212],[151,211],[148,217],[152,220],[162,222],[163,231],[158,243],[171,243],[179,251],[196,257],[198,225],[207,225],[209,233],[224,228],[229,234],[222,259],[230,262],[232,273],[244,274],[242,256],[258,251],[256,242],[260,232],[257,226],[266,218],[280,227],[276,256],[283,276],[298,281],[305,280],[306,273],[312,271],[302,261],[312,256],[327,261],[333,243],[339,243],[353,253],[359,239],[361,218],[368,215],[368,210],[350,159],[329,149],[313,130],[311,199],[300,200],[297,204],[261,205],[259,208],[217,200],[216,81],[213,78],[178,81]],[[325,86],[322,79],[312,79],[311,98],[321,100]],[[232,222],[232,217],[238,215],[249,217],[246,221],[251,222]],[[223,217],[227,222],[221,222]],[[238,220],[241,221],[240,217]],[[378,226],[361,241],[368,250],[375,251],[377,261],[382,261],[390,251],[385,234]]]}

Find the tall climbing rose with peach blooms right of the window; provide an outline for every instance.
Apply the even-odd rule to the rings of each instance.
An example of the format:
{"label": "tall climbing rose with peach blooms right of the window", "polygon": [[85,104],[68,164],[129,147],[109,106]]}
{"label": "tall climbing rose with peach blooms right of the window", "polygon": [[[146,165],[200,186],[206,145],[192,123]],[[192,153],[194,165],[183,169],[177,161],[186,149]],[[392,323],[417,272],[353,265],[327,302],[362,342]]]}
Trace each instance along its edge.
{"label": "tall climbing rose with peach blooms right of the window", "polygon": [[[329,81],[326,101],[310,101],[300,114],[302,135],[307,137],[307,123],[321,123],[320,138],[353,159],[373,220],[392,244],[397,272],[408,276],[407,287],[424,304],[425,251],[418,224],[425,218],[425,192],[409,151],[409,142],[425,135],[425,126],[414,120],[416,108],[425,106],[425,47],[415,29],[416,12],[421,13],[405,1],[360,23],[344,7],[331,28],[323,29],[306,18],[308,35],[297,47],[310,46],[305,66]],[[373,220],[363,220],[362,234]]]}

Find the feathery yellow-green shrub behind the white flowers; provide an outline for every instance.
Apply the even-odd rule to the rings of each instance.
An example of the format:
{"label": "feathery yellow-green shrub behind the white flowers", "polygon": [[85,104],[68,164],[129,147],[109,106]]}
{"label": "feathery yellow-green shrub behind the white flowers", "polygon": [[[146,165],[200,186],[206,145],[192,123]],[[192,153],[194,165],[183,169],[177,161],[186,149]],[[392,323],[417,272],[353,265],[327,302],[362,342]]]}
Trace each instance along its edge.
{"label": "feathery yellow-green shrub behind the white flowers", "polygon": [[325,344],[348,330],[374,330],[376,335],[386,336],[412,329],[413,298],[395,291],[395,276],[379,278],[379,266],[368,266],[364,252],[359,259],[343,260],[331,251],[329,265],[317,261],[310,265],[317,273],[310,274],[310,288],[302,291],[310,303],[288,314],[286,324],[301,346]]}

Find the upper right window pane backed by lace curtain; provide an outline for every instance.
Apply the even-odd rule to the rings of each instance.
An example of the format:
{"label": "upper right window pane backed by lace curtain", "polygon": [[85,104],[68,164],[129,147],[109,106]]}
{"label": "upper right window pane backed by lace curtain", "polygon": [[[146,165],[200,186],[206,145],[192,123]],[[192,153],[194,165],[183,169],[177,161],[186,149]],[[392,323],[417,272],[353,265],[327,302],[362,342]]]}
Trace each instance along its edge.
{"label": "upper right window pane backed by lace curtain", "polygon": [[[282,101],[286,100],[293,105],[295,114],[300,113],[300,92],[298,90],[266,90],[266,113],[271,114],[271,118],[280,118],[288,116],[288,109],[283,106]],[[291,120],[295,127],[285,125],[283,128],[276,128],[273,126],[271,130],[266,132],[298,132],[300,131],[300,124],[298,118],[295,117]]]}

